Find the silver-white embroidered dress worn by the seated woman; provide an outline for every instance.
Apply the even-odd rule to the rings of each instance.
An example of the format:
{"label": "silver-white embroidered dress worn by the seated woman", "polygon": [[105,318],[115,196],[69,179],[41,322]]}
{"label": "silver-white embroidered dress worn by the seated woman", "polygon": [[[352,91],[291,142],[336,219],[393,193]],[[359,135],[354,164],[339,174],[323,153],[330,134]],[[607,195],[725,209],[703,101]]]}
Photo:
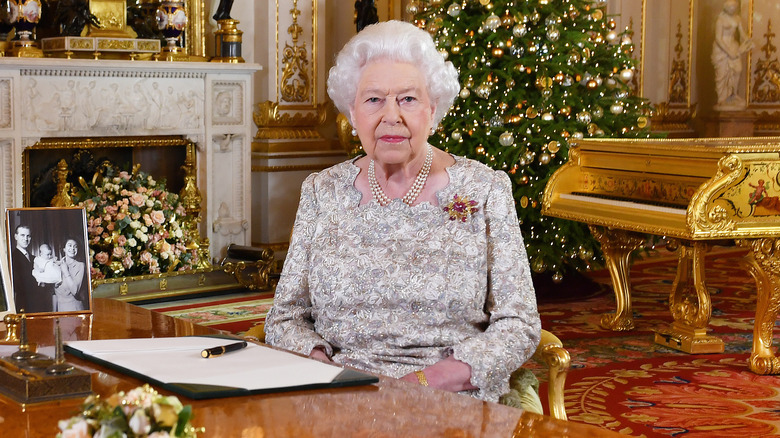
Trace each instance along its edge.
{"label": "silver-white embroidered dress worn by the seated woman", "polygon": [[[454,355],[471,366],[472,395],[509,391],[541,324],[507,175],[455,157],[439,205],[359,205],[347,161],[301,189],[266,341],[391,377]],[[450,220],[454,199],[477,202]]]}

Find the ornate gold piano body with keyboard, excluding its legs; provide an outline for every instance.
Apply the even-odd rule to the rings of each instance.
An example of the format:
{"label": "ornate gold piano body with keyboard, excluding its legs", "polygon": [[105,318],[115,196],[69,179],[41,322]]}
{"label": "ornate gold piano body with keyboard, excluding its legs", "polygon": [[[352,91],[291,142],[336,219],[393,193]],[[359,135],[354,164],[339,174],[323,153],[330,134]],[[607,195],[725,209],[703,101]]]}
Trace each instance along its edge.
{"label": "ornate gold piano body with keyboard, excluding its legs", "polygon": [[579,140],[542,213],[689,240],[780,236],[780,137]]}

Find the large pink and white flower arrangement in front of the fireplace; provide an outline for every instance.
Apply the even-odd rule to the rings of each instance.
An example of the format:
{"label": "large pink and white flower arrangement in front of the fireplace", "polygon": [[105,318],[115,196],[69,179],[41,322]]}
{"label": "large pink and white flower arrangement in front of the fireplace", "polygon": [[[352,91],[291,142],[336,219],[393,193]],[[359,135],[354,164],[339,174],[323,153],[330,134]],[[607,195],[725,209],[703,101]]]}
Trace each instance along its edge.
{"label": "large pink and white flower arrangement in front of the fireplace", "polygon": [[92,279],[197,267],[197,233],[182,223],[185,208],[164,181],[107,166],[80,183],[73,200],[87,212]]}

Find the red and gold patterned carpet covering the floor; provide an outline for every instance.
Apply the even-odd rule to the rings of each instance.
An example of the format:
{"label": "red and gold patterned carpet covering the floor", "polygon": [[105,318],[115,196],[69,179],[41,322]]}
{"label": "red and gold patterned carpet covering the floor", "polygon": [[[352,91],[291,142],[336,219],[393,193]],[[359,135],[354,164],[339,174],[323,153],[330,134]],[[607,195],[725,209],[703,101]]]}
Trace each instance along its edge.
{"label": "red and gold patterned carpet covering the floor", "polygon": [[[561,338],[572,358],[565,389],[569,420],[646,438],[780,437],[780,377],[747,369],[755,284],[739,264],[744,254],[740,248],[716,248],[707,256],[710,326],[725,342],[723,354],[691,355],[653,343],[653,329],[672,321],[668,295],[677,261],[665,250],[634,262],[633,331],[599,326],[601,314],[615,307],[604,271],[590,274],[602,286],[587,299],[540,300],[542,326]],[[272,293],[265,292],[145,307],[257,334],[272,301]],[[527,366],[542,380],[546,406],[545,370],[536,363]]]}

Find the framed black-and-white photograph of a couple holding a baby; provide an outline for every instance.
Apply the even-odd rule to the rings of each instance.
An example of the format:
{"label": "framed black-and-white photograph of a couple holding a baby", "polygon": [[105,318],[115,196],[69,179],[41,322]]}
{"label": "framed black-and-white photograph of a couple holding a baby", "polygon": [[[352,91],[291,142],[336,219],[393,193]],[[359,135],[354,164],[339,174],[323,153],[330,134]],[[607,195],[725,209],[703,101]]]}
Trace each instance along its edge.
{"label": "framed black-and-white photograph of a couple holding a baby", "polygon": [[83,208],[11,208],[5,229],[14,312],[91,313]]}

